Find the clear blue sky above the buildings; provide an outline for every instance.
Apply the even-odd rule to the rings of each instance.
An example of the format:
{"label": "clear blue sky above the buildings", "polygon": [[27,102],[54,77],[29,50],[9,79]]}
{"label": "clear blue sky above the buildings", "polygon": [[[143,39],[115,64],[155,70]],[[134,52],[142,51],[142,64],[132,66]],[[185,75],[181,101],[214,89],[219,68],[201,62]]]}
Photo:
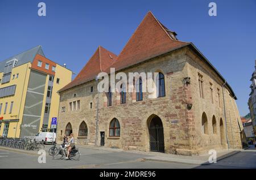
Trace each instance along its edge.
{"label": "clear blue sky above the buildings", "polygon": [[[45,2],[46,17],[38,16]],[[217,16],[208,15],[217,3]],[[241,115],[256,59],[256,1],[60,1],[0,0],[0,61],[37,45],[47,58],[79,72],[98,45],[121,52],[144,15],[153,14],[191,41],[232,86]]]}

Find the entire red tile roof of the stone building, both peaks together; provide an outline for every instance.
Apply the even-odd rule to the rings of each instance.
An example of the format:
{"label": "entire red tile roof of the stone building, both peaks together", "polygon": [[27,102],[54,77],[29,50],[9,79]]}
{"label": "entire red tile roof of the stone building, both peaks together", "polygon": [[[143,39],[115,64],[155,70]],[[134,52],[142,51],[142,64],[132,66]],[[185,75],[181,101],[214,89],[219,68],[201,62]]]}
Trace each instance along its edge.
{"label": "entire red tile roof of the stone building, both peaks together", "polygon": [[115,67],[116,71],[121,70],[189,44],[172,38],[170,32],[148,12],[118,57],[100,46],[76,78],[60,91],[88,82],[99,72],[110,72],[110,67]]}

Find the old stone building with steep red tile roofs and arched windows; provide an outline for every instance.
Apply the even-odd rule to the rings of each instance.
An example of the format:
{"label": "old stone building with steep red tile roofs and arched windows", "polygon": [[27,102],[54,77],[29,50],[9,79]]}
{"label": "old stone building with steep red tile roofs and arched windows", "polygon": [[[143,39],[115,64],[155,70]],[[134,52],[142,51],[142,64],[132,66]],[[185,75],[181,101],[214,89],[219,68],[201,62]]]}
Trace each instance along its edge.
{"label": "old stone building with steep red tile roofs and arched windows", "polygon": [[[95,77],[110,67],[116,74],[157,72],[155,91],[98,93]],[[134,84],[141,89],[146,82]],[[59,93],[59,141],[73,132],[79,144],[182,155],[242,148],[230,85],[195,45],[177,40],[151,12],[118,56],[99,46]]]}

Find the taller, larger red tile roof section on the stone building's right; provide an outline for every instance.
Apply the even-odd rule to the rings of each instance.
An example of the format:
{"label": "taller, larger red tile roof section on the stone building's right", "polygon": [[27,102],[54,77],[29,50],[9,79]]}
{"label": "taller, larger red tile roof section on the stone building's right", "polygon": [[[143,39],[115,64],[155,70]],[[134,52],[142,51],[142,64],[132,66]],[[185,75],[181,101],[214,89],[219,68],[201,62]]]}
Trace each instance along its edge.
{"label": "taller, larger red tile roof section on the stone building's right", "polygon": [[112,67],[120,70],[188,44],[171,37],[171,33],[176,35],[148,12]]}

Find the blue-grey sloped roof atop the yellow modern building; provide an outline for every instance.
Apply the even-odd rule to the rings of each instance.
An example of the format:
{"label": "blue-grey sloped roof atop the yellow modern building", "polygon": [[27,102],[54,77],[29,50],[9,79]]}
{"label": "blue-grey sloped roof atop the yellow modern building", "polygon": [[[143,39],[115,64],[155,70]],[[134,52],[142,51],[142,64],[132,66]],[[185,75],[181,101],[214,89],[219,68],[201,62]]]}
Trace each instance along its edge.
{"label": "blue-grey sloped roof atop the yellow modern building", "polygon": [[35,58],[36,54],[43,55],[44,53],[42,50],[42,46],[36,46],[35,48],[26,50],[25,52],[19,53],[17,55],[14,55],[13,57],[10,57],[8,59],[5,59],[5,61],[0,62],[0,72],[3,72],[3,68],[5,68],[5,64],[7,61],[10,61],[12,59],[18,59],[18,63],[16,66],[23,65],[24,63],[32,62]]}

